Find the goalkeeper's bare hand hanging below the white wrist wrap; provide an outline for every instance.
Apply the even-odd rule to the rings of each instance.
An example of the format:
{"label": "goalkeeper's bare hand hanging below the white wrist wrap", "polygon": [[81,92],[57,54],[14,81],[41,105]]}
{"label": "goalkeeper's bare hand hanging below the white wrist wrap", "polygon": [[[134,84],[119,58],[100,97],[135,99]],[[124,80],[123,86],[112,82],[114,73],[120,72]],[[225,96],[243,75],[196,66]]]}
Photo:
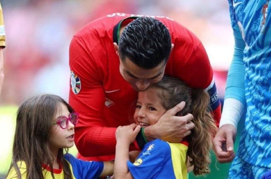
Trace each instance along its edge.
{"label": "goalkeeper's bare hand hanging below the white wrist wrap", "polygon": [[213,151],[220,163],[231,162],[234,158],[233,144],[236,128],[231,124],[222,125],[213,139]]}

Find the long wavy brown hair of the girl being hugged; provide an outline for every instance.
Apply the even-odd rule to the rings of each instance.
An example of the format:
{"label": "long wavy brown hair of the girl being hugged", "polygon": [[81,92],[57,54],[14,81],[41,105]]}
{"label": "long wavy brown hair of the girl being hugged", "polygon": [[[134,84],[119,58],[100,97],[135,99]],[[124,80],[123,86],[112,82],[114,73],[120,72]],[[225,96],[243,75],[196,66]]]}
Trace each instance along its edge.
{"label": "long wavy brown hair of the girl being hugged", "polygon": [[194,165],[193,173],[200,175],[209,173],[210,153],[212,148],[212,137],[217,132],[213,116],[209,112],[209,94],[203,89],[188,87],[179,79],[164,76],[158,83],[150,88],[157,88],[157,95],[166,110],[173,108],[181,101],[185,102],[183,110],[177,116],[191,113],[194,116],[192,122],[195,128],[191,130],[191,141],[187,149],[190,157],[189,164]]}

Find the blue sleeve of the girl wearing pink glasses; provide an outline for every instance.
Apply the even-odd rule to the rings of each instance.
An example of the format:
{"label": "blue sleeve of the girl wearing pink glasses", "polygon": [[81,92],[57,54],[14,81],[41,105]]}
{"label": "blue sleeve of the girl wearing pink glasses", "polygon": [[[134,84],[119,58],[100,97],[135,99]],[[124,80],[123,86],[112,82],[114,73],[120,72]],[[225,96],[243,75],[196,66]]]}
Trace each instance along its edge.
{"label": "blue sleeve of the girl wearing pink glasses", "polygon": [[101,175],[104,168],[103,162],[82,161],[69,153],[65,154],[64,158],[70,163],[72,173],[77,179],[96,179]]}

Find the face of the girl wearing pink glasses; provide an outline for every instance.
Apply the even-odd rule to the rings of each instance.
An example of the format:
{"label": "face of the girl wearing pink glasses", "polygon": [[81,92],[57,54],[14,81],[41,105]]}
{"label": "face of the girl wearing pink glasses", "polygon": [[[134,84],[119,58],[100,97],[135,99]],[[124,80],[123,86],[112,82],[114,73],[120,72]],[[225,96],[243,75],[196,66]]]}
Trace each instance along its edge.
{"label": "face of the girl wearing pink glasses", "polygon": [[[64,104],[60,104],[55,121],[61,116],[69,117],[70,112]],[[69,120],[68,127],[62,129],[59,124],[52,124],[52,134],[49,138],[51,150],[58,151],[59,148],[71,148],[74,145],[74,125]]]}

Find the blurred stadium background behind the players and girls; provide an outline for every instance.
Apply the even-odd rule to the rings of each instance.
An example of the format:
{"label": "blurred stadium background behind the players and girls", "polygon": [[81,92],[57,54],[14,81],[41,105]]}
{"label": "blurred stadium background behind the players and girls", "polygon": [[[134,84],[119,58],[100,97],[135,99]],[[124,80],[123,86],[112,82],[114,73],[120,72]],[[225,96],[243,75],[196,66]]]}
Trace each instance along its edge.
{"label": "blurred stadium background behind the players and girls", "polygon": [[[36,93],[54,93],[68,100],[70,40],[101,16],[115,12],[167,16],[186,26],[206,48],[223,103],[234,45],[226,0],[1,0],[1,4],[6,48],[0,98],[0,179],[10,165],[17,106]],[[72,153],[76,154],[76,148]],[[206,177],[226,178],[228,167],[213,157],[211,174]]]}

